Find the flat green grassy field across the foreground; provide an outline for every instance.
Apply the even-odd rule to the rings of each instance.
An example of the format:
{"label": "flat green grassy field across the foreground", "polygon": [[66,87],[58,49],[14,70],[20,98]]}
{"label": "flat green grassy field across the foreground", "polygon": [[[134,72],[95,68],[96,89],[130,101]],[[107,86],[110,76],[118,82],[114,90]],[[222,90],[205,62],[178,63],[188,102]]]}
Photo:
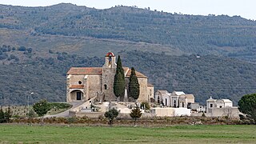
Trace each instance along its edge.
{"label": "flat green grassy field across the foreground", "polygon": [[170,127],[0,125],[0,143],[254,143],[256,126]]}

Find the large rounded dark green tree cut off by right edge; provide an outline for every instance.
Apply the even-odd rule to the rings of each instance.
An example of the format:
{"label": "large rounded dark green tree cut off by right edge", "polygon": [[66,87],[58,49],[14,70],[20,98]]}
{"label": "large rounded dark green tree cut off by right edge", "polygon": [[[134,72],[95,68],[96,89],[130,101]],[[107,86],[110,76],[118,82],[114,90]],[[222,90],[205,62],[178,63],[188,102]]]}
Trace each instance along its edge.
{"label": "large rounded dark green tree cut off by right edge", "polygon": [[238,102],[238,110],[256,123],[256,94],[246,94]]}

